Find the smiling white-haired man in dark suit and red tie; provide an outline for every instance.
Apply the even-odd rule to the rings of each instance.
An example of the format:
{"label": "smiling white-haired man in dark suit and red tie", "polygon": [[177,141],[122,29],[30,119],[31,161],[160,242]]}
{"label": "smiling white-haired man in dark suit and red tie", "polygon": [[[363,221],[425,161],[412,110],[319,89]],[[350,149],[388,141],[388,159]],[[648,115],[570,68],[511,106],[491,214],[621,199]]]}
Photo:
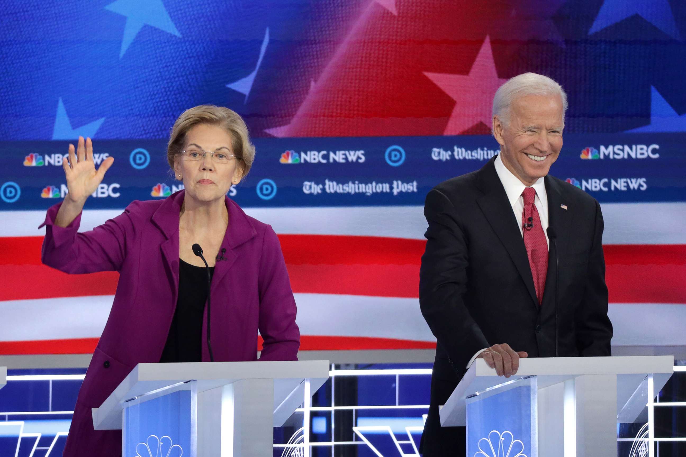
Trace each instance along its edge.
{"label": "smiling white-haired man in dark suit and red tie", "polygon": [[600,206],[548,175],[566,109],[552,79],[508,80],[493,100],[499,155],[426,197],[419,301],[438,343],[425,457],[464,456],[464,428],[441,427],[438,406],[475,358],[509,378],[521,357],[611,355]]}

